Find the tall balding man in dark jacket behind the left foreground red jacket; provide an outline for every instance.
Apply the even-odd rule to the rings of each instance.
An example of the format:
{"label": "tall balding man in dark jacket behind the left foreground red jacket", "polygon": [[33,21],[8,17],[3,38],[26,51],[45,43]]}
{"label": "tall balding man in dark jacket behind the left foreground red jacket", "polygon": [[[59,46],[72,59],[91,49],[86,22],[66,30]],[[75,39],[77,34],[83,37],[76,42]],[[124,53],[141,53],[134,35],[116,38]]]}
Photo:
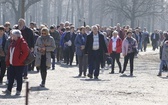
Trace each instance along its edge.
{"label": "tall balding man in dark jacket behind the left foreground red jacket", "polygon": [[[17,28],[22,32],[23,38],[27,42],[31,51],[33,51],[33,48],[34,48],[34,34],[33,34],[33,31],[30,28],[26,27],[24,19],[19,19]],[[28,79],[28,77],[27,77],[28,69],[29,69],[28,66],[25,66],[24,73],[23,73],[24,79]]]}

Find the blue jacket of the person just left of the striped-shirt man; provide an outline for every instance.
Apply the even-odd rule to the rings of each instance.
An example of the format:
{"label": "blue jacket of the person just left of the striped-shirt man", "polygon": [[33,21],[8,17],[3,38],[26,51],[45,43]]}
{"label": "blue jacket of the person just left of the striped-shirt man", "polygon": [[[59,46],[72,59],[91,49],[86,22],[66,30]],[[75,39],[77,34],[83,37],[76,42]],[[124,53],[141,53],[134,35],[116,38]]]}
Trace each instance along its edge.
{"label": "blue jacket of the person just left of the striped-shirt man", "polygon": [[81,50],[81,46],[86,44],[87,35],[78,34],[75,38],[75,47],[77,56],[82,56],[84,50]]}

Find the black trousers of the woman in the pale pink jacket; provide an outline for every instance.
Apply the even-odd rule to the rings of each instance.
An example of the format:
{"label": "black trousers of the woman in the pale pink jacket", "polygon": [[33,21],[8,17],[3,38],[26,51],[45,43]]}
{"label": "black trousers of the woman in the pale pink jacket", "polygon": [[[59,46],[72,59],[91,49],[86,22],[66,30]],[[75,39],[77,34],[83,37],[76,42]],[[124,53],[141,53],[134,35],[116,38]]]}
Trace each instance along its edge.
{"label": "black trousers of the woman in the pale pink jacket", "polygon": [[134,67],[134,53],[129,53],[124,57],[124,66],[123,66],[123,73],[126,70],[128,60],[130,60],[130,74],[133,74],[133,67]]}

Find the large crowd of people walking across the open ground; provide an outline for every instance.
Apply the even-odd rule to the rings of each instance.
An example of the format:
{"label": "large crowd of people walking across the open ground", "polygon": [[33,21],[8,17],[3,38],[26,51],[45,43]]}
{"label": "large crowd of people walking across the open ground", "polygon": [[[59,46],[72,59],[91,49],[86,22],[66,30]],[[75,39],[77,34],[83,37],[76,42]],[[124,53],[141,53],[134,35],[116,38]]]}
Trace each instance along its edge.
{"label": "large crowd of people walking across the open ground", "polygon": [[[160,69],[158,76],[162,75],[163,67],[168,67],[168,34],[155,30],[150,34],[146,28],[135,29],[129,25],[121,27],[118,23],[114,27],[102,27],[99,24],[75,28],[66,21],[58,26],[40,25],[35,22],[26,26],[24,19],[12,28],[10,22],[0,26],[0,84],[7,70],[7,89],[5,94],[11,94],[14,81],[17,81],[16,95],[22,90],[22,79],[28,79],[28,71],[41,74],[41,87],[45,87],[47,69],[55,70],[55,64],[64,63],[72,66],[74,56],[79,66],[78,77],[98,79],[100,69],[109,69],[110,74],[115,73],[115,61],[119,73],[124,73],[130,61],[130,76],[133,76],[134,58],[138,53],[146,52],[147,44],[152,42],[152,50],[160,48]],[[24,65],[24,60],[31,51],[36,55],[35,61]],[[124,56],[123,66],[120,54]],[[166,68],[165,67],[165,68]],[[88,69],[88,71],[87,71]]]}

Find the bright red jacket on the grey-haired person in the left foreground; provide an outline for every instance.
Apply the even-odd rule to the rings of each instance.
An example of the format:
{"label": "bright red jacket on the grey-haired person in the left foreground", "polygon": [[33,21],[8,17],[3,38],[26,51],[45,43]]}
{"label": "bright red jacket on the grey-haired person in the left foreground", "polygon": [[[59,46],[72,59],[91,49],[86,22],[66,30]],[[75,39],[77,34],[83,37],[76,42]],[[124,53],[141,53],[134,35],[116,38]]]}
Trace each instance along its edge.
{"label": "bright red jacket on the grey-haired person in the left foreground", "polygon": [[6,57],[6,65],[13,65],[13,66],[24,66],[24,61],[26,60],[28,54],[29,54],[29,47],[26,41],[23,38],[19,38],[15,45],[14,45],[14,53],[13,53],[13,59],[12,64],[10,64],[10,49],[12,48],[12,43],[8,48],[8,53]]}

